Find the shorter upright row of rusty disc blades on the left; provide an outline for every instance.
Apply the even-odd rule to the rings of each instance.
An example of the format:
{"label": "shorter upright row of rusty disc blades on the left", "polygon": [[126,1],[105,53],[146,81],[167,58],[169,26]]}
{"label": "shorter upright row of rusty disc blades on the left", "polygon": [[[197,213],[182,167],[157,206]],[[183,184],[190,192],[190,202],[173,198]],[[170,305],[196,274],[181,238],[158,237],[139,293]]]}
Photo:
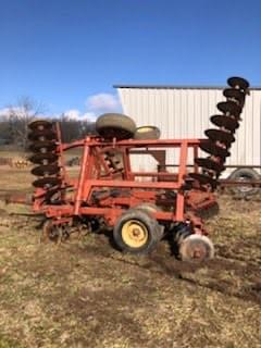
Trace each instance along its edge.
{"label": "shorter upright row of rusty disc blades on the left", "polygon": [[55,153],[58,139],[52,123],[47,120],[36,120],[28,127],[30,129],[28,134],[29,150],[34,152],[29,160],[36,164],[32,174],[38,176],[33,185],[49,188],[61,184],[58,154]]}

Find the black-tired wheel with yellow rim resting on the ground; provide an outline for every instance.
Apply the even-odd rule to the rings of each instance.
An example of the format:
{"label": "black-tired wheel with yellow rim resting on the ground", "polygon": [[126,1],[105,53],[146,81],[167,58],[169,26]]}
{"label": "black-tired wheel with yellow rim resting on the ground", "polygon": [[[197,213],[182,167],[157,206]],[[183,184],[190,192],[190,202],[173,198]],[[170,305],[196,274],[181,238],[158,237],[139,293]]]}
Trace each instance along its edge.
{"label": "black-tired wheel with yellow rim resting on the ground", "polygon": [[[128,225],[129,224],[129,225]],[[126,227],[127,226],[127,227]],[[129,227],[130,226],[130,227]],[[126,233],[124,228],[138,229],[138,235],[134,232]],[[139,228],[145,232],[140,234]],[[144,236],[145,235],[145,236]],[[140,238],[144,240],[140,241]],[[129,209],[116,222],[113,229],[113,239],[122,250],[133,254],[147,254],[152,251],[161,237],[161,228],[157,220],[147,212],[139,209]]]}

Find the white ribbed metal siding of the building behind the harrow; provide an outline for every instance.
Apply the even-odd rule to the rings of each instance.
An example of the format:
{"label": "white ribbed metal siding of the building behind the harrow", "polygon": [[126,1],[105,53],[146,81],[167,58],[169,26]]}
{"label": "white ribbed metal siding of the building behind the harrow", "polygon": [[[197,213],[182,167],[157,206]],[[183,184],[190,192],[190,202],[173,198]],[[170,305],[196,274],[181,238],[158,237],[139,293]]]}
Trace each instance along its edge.
{"label": "white ribbed metal siding of the building behind the harrow", "polygon": [[[216,103],[224,100],[222,89],[213,88],[117,88],[123,112],[138,126],[156,125],[161,138],[203,138],[213,127],[210,116],[219,113]],[[261,164],[261,90],[247,96],[243,121],[227,164]],[[170,163],[172,161],[172,163]],[[176,159],[175,159],[176,161]],[[135,167],[154,166],[149,159],[135,159]],[[173,156],[167,156],[173,164]]]}

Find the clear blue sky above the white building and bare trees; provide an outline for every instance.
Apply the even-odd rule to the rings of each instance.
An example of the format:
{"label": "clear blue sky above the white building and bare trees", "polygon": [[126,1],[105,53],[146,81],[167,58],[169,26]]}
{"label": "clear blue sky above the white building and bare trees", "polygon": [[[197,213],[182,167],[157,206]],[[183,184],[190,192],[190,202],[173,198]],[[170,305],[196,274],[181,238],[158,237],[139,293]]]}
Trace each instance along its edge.
{"label": "clear blue sky above the white building and bare trees", "polygon": [[99,112],[114,84],[260,86],[261,1],[0,0],[0,109]]}

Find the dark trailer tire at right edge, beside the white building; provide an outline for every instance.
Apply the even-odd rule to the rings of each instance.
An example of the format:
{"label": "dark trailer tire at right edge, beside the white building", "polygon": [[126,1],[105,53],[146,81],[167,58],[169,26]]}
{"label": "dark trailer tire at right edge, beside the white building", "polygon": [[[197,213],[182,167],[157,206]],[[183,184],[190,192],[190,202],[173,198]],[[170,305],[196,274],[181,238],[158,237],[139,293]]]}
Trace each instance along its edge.
{"label": "dark trailer tire at right edge, beside the white building", "polygon": [[[237,169],[228,177],[232,181],[252,181],[260,179],[260,175],[252,169]],[[248,198],[250,196],[257,195],[260,191],[259,187],[252,186],[235,186],[232,187],[232,192],[239,198]]]}

